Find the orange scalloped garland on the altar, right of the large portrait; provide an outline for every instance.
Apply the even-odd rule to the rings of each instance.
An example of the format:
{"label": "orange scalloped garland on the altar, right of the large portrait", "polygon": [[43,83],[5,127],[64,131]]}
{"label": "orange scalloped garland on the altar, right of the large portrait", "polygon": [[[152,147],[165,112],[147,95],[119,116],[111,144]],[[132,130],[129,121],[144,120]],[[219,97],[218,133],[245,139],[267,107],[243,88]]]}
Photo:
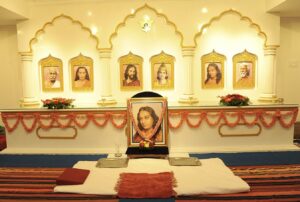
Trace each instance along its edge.
{"label": "orange scalloped garland on the altar, right of the large portrait", "polygon": [[[205,121],[209,126],[217,126],[222,122],[229,127],[235,127],[240,123],[248,126],[253,126],[258,122],[261,122],[262,125],[266,128],[273,127],[276,121],[278,121],[282,127],[290,128],[296,122],[297,115],[298,108],[292,109],[290,111],[280,109],[274,111],[256,109],[251,111],[237,110],[234,112],[223,110],[219,110],[216,112],[189,112],[187,110],[180,110],[177,112],[169,112],[168,118],[169,127],[172,129],[181,127],[183,122],[186,122],[187,125],[191,128],[198,128],[203,121]],[[194,123],[190,120],[192,117],[194,120],[197,119]],[[180,119],[179,121],[178,118]],[[172,119],[177,119],[177,124],[174,124]]]}

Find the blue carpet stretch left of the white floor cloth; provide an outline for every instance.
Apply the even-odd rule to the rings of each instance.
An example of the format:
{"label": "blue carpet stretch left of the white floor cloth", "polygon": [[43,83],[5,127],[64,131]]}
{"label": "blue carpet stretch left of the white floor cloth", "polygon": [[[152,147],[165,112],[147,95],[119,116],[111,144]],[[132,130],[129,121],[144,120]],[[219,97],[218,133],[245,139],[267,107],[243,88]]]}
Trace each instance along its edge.
{"label": "blue carpet stretch left of the white floor cloth", "polygon": [[107,155],[13,155],[1,154],[0,167],[72,167],[77,161],[97,161]]}

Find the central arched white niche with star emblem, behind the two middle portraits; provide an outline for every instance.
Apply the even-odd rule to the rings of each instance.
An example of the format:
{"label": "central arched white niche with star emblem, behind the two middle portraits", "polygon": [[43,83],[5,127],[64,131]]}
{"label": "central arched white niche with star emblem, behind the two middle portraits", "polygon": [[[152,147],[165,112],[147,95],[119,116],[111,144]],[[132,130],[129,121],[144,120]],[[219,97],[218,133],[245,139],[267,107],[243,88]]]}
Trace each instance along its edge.
{"label": "central arched white niche with star emblem, behind the two middle portraits", "polygon": [[[149,18],[151,23],[151,29],[148,32],[143,31],[143,21],[145,18]],[[167,16],[159,13],[156,9],[144,5],[135,10],[133,14],[129,14],[124,20],[116,26],[115,32],[110,37],[110,44],[112,47],[111,58],[111,76],[120,74],[118,58],[122,55],[126,55],[129,52],[133,52],[140,55],[143,60],[143,89],[151,89],[151,64],[149,59],[153,55],[159,54],[164,51],[176,58],[174,64],[175,69],[175,88],[174,90],[161,90],[164,96],[168,96],[169,99],[176,100],[175,92],[180,90],[180,75],[182,70],[182,54],[181,48],[183,43],[183,35],[177,29],[176,25],[171,22]],[[116,78],[122,79],[122,78]],[[120,82],[112,80],[112,94],[124,102],[127,97],[131,97],[136,94],[137,91],[122,91],[120,89]]]}

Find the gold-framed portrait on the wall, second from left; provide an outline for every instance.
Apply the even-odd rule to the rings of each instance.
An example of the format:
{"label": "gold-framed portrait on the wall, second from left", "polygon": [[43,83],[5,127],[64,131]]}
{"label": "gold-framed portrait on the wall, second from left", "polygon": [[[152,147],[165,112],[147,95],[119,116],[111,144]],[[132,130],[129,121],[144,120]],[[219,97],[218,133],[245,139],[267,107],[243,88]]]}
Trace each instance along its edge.
{"label": "gold-framed portrait on the wall, second from left", "polygon": [[70,60],[70,72],[73,91],[93,91],[93,59],[81,53]]}

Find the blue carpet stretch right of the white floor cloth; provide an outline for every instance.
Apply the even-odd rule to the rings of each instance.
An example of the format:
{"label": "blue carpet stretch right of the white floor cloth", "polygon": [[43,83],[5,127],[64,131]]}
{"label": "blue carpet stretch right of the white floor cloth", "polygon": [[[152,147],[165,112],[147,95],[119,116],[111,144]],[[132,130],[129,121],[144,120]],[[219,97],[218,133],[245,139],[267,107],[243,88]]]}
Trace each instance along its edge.
{"label": "blue carpet stretch right of the white floor cloth", "polygon": [[190,154],[199,159],[220,158],[227,166],[300,164],[300,151]]}

